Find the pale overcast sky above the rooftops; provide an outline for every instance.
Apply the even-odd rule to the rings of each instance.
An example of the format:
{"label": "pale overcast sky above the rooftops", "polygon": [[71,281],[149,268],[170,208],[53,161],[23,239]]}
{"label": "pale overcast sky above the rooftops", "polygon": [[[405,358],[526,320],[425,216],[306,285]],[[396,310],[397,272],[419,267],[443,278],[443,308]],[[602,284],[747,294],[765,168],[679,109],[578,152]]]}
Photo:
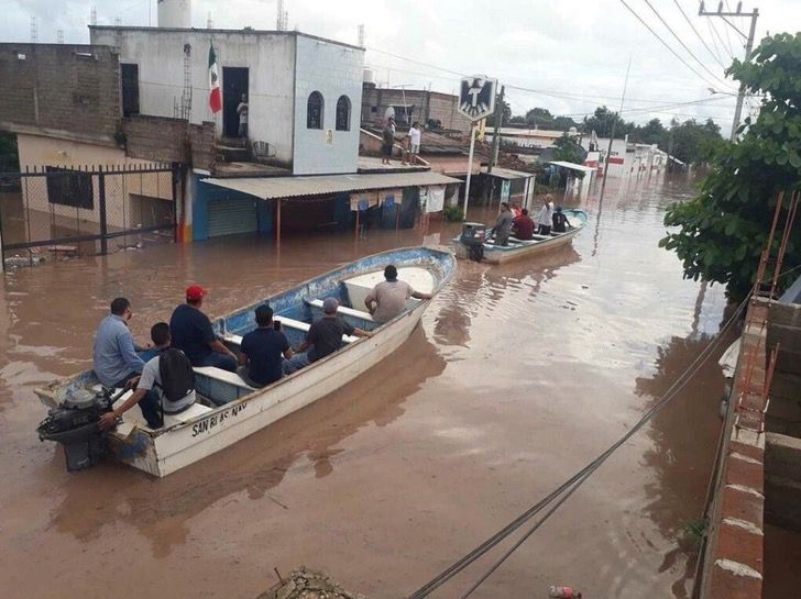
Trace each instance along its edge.
{"label": "pale overcast sky above the rooftops", "polygon": [[[210,12],[216,27],[272,30],[276,3],[193,0],[193,25],[205,27]],[[737,2],[727,3],[735,9]],[[709,88],[734,90],[731,80],[720,80],[724,78],[720,62],[728,65],[732,54],[743,56],[743,37],[721,18],[699,16],[695,0],[625,0],[625,4],[698,74],[666,49],[623,0],[285,0],[290,29],[355,44],[358,26],[364,24],[365,66],[375,69],[382,86],[430,85],[451,92],[458,74],[481,73],[506,84],[514,113],[544,107],[580,120],[599,104],[619,108],[630,57],[627,119],[711,117],[725,132],[735,100],[713,96]],[[156,0],[0,0],[0,40],[30,41],[31,16],[36,16],[40,42],[55,42],[63,30],[65,42],[88,43],[91,7],[97,9],[98,24],[114,24],[118,19],[123,25],[156,24]],[[716,0],[707,0],[707,10],[716,7]],[[801,0],[743,2],[744,10],[755,7],[760,12],[757,43],[767,32],[794,32],[801,25]],[[748,32],[749,19],[731,22]],[[668,106],[693,101],[700,103]]]}

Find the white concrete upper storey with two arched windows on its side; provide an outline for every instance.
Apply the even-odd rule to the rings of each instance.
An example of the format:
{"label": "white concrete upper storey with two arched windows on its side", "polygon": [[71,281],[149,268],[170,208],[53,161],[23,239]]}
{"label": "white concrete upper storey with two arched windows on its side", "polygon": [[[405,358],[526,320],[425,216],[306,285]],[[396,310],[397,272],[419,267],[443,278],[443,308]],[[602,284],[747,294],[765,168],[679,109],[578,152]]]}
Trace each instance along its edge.
{"label": "white concrete upper storey with two arched windows on its side", "polygon": [[[286,31],[91,26],[91,44],[117,48],[123,114],[213,121],[235,137],[249,100],[248,138],[265,142],[293,175],[355,173],[364,49]],[[209,107],[213,44],[222,111]]]}

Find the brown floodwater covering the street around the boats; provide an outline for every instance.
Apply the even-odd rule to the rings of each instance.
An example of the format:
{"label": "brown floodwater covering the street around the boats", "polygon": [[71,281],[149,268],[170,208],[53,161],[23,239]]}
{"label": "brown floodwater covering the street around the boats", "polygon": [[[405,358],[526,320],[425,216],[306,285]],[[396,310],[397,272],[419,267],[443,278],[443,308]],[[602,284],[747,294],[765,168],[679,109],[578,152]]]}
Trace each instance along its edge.
{"label": "brown floodwater covering the street around the boats", "polygon": [[[111,298],[144,340],[183,289],[215,315],[358,256],[457,230],[158,245],[7,273],[0,286],[3,597],[255,597],[305,564],[402,597],[605,450],[693,360],[723,289],[682,280],[657,247],[687,179],[581,201],[572,247],[507,266],[460,262],[413,337],[345,388],[165,479],[113,463],[67,474],[33,389],[90,367]],[[472,220],[490,221],[476,208]],[[474,597],[688,597],[684,528],[700,518],[720,431],[704,367]],[[497,554],[493,554],[495,557]],[[437,592],[453,598],[484,558]]]}

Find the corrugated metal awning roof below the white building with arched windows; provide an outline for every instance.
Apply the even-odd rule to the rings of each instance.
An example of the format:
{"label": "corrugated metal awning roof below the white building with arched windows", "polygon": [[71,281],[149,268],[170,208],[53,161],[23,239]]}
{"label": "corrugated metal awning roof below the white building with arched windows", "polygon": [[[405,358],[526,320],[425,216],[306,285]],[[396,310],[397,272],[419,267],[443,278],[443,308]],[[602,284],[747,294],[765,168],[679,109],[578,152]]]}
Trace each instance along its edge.
{"label": "corrugated metal awning roof below the white building with arched windows", "polygon": [[307,177],[241,177],[231,179],[202,179],[202,182],[249,193],[263,200],[322,196],[370,189],[460,184],[459,179],[439,173],[381,173],[359,175],[315,175]]}

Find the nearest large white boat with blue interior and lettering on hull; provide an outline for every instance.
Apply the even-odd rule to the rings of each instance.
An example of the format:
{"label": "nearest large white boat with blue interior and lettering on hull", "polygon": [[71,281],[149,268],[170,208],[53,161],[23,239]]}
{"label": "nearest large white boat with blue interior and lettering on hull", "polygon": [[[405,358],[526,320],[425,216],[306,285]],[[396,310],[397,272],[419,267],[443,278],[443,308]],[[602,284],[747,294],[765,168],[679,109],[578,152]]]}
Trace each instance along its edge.
{"label": "nearest large white boat with blue interior and lettering on hull", "polygon": [[[134,468],[157,477],[166,476],[315,402],[384,359],[409,337],[429,304],[429,300],[410,299],[399,315],[382,325],[375,323],[362,310],[363,301],[373,286],[384,280],[383,270],[388,264],[397,267],[401,280],[418,291],[431,293],[439,291],[456,270],[456,260],[447,252],[425,247],[394,249],[367,256],[217,319],[216,332],[235,350],[242,335],[255,328],[254,309],[268,302],[289,343],[297,345],[309,323],[320,318],[323,298],[334,297],[340,301],[339,315],[354,326],[372,331],[373,335],[344,337],[340,351],[261,389],[249,387],[233,373],[213,367],[195,368],[198,402],[180,414],[165,415],[164,426],[156,430],[146,425],[139,408],[129,410],[108,435],[111,452]],[[88,370],[53,382],[36,393],[45,406],[61,409],[72,418],[81,413],[74,404],[100,391],[97,378]],[[125,397],[117,401],[124,401]],[[81,399],[70,404],[70,398]],[[70,408],[65,409],[68,404]],[[102,409],[107,409],[105,404]],[[96,418],[94,413],[78,420],[85,431],[94,434]],[[43,436],[42,426],[41,437],[55,439]],[[69,466],[69,454],[67,459]],[[85,466],[77,466],[80,467]]]}

